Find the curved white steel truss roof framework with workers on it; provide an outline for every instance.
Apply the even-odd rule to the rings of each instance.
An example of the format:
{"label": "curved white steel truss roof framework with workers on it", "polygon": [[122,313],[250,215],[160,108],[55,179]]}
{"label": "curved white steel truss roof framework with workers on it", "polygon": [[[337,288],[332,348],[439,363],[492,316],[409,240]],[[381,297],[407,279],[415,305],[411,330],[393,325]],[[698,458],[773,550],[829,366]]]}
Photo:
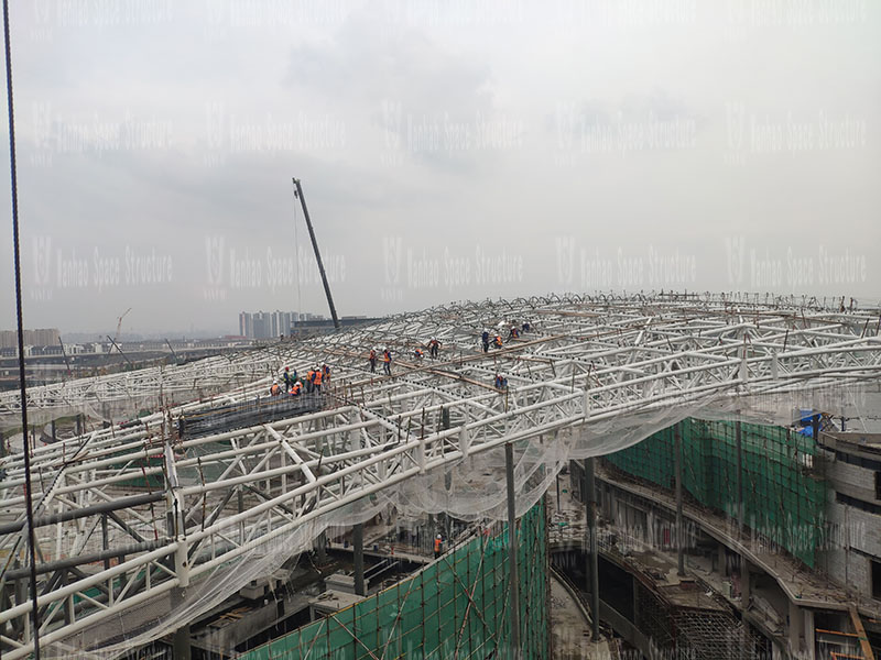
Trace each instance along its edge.
{"label": "curved white steel truss roof framework with workers on it", "polygon": [[[307,530],[309,541],[322,516],[507,442],[523,451],[539,437],[570,442],[595,427],[639,424],[646,414],[675,419],[700,407],[732,410],[791,392],[877,383],[879,318],[878,310],[752,297],[486,301],[402,315],[235,360],[213,358],[173,376],[152,369],[33,388],[29,406],[51,408],[59,398],[76,406],[124,397],[131,383],[152,394],[207,378],[235,385],[208,402],[155,410],[129,428],[33,451],[41,641],[70,645],[91,631],[94,648],[119,642],[99,632],[108,620],[134,620],[151,603],[174,603],[188,588],[202,588],[214,571],[254,552],[262,557],[298,530]],[[523,332],[525,322],[531,328]],[[512,324],[520,337],[509,337]],[[501,348],[485,352],[485,328],[502,336]],[[425,349],[433,337],[442,342],[436,360]],[[414,355],[420,346],[422,359]],[[385,348],[394,355],[392,376],[382,374]],[[379,354],[377,373],[368,366],[371,349]],[[181,415],[265,397],[267,378],[284,366],[302,374],[322,363],[333,374],[313,395],[315,411],[205,437],[177,432]],[[507,389],[494,387],[497,374],[508,378]],[[246,377],[250,385],[242,384]],[[17,399],[3,400],[3,414],[17,415]],[[0,644],[12,660],[33,648],[24,593],[24,469],[21,455],[0,465]],[[163,632],[156,628],[154,636]]]}

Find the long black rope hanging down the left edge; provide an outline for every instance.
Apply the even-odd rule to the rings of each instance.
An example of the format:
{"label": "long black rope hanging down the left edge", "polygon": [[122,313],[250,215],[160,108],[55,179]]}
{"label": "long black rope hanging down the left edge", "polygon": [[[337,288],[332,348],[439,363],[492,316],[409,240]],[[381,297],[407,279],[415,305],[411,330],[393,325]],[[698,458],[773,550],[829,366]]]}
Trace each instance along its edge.
{"label": "long black rope hanging down the left edge", "polygon": [[34,658],[40,660],[40,610],[36,606],[34,510],[31,499],[31,447],[28,440],[28,398],[24,382],[24,330],[21,315],[21,260],[19,254],[19,183],[15,175],[15,116],[12,106],[12,47],[9,41],[9,0],[3,0],[3,34],[7,48],[7,102],[9,106],[9,164],[12,176],[12,244],[15,262],[15,316],[19,323],[19,388],[21,392],[22,450],[24,451],[24,499],[28,507],[28,549],[31,564],[31,617]]}

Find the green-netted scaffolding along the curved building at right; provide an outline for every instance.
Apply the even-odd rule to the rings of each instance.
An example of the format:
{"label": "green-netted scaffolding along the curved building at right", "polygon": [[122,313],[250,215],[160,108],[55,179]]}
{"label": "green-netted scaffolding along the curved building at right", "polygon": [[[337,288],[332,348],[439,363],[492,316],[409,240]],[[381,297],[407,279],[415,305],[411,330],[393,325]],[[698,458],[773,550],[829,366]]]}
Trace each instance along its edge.
{"label": "green-netted scaffolding along the curved building at right", "polygon": [[[741,425],[742,469],[738,480],[737,428],[731,421],[688,418],[682,422],[683,487],[703,506],[738,518],[770,546],[814,568],[825,538],[826,483],[814,470],[817,446],[791,429]],[[609,463],[673,490],[673,429],[609,454]]]}

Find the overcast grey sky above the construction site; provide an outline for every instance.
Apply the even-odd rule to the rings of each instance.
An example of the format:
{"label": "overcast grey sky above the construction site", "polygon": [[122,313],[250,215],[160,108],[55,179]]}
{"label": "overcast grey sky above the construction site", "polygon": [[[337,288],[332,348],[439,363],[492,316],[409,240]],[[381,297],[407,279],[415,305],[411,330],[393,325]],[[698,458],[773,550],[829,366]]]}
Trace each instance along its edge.
{"label": "overcast grey sky above the construction site", "polygon": [[294,176],[340,315],[881,298],[878,3],[552,7],[13,0],[25,326],[326,314]]}

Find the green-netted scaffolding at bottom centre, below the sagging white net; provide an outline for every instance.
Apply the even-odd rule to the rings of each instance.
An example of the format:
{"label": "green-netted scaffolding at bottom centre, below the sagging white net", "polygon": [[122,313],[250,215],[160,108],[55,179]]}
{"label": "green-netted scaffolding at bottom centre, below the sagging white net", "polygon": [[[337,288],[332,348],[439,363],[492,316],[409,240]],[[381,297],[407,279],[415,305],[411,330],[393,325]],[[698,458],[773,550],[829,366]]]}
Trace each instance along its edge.
{"label": "green-netted scaffolding at bottom centre, below the sagging white net", "polygon": [[[239,656],[240,660],[508,658],[508,526],[476,527],[458,548],[394,586]],[[544,499],[518,522],[523,660],[547,658]]]}

